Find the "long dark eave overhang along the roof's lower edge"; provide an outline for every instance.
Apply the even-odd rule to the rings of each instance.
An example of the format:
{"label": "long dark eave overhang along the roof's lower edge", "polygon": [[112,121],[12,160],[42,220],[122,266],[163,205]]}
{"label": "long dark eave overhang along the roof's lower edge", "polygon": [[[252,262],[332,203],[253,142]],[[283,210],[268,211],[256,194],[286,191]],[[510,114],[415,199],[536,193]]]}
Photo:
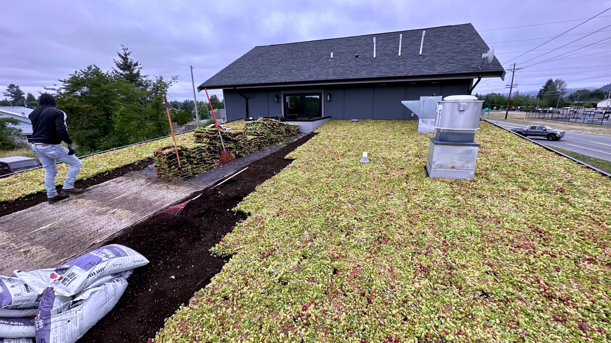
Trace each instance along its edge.
{"label": "long dark eave overhang along the roof's lower edge", "polygon": [[304,81],[304,82],[284,82],[284,83],[269,83],[269,84],[240,84],[240,85],[214,85],[210,87],[197,87],[197,91],[204,88],[208,89],[242,89],[242,88],[270,88],[270,87],[300,87],[300,86],[316,86],[316,85],[340,85],[340,84],[375,84],[379,82],[409,82],[409,81],[435,81],[435,80],[452,80],[452,79],[475,79],[481,78],[500,78],[505,81],[505,70],[502,72],[493,71],[485,73],[469,73],[469,74],[446,74],[446,75],[431,75],[431,76],[414,76],[404,78],[377,78],[377,79],[344,79],[344,80],[328,80],[328,81]]}

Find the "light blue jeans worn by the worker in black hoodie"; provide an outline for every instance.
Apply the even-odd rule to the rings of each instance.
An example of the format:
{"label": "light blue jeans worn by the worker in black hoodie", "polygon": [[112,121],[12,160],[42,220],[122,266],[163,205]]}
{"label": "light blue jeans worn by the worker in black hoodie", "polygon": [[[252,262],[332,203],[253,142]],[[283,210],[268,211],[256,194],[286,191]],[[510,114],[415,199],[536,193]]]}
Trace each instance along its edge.
{"label": "light blue jeans worn by the worker in black hoodie", "polygon": [[45,189],[46,197],[53,198],[57,197],[57,190],[55,189],[55,175],[57,174],[56,161],[64,162],[68,167],[68,175],[66,175],[66,181],[64,181],[64,189],[71,189],[75,187],[76,175],[78,175],[79,169],[81,169],[82,162],[78,157],[74,155],[68,155],[68,149],[60,144],[41,146],[32,144],[32,150],[43,168],[45,168]]}

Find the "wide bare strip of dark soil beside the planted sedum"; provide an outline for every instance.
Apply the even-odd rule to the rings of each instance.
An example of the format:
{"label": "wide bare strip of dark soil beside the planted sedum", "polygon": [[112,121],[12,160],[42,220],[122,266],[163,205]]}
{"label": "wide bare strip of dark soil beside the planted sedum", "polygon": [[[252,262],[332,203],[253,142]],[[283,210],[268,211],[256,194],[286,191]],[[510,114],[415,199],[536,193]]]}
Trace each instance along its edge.
{"label": "wide bare strip of dark soil beside the planted sedum", "polygon": [[[142,253],[150,263],[134,270],[117,306],[79,339],[79,343],[144,343],[154,338],[164,320],[178,306],[188,303],[228,261],[211,255],[209,250],[232,231],[236,222],[247,217],[231,209],[255,187],[290,164],[284,156],[312,135],[251,162],[247,171],[221,186],[204,190],[177,217],[153,215],[106,242],[126,245]],[[182,201],[185,200],[177,203]]]}

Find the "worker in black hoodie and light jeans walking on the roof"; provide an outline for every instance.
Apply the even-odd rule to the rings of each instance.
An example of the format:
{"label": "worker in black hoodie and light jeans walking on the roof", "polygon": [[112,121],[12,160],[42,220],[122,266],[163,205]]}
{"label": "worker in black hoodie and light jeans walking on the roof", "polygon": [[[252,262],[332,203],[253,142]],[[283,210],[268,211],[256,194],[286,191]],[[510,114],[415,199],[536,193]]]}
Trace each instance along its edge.
{"label": "worker in black hoodie and light jeans walking on the roof", "polygon": [[[49,204],[57,203],[69,196],[84,190],[75,187],[76,175],[81,169],[82,162],[75,156],[75,146],[68,135],[66,128],[66,114],[56,108],[55,99],[50,94],[40,95],[40,107],[33,110],[28,116],[32,121],[32,150],[43,168],[45,168],[45,189]],[[68,148],[60,143],[66,142]],[[56,162],[64,162],[68,167],[68,175],[64,186],[57,193],[55,188]]]}

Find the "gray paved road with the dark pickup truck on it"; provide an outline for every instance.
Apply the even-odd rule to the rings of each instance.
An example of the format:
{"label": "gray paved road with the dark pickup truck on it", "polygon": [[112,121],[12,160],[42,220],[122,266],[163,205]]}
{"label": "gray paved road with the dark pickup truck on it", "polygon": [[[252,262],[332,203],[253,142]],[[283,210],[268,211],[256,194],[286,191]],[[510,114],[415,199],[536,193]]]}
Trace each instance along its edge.
{"label": "gray paved road with the dark pickup truck on it", "polygon": [[[508,121],[492,121],[499,126],[507,129],[526,128],[527,125],[510,123]],[[554,128],[554,125],[549,125]],[[561,140],[551,142],[544,137],[530,137],[538,143],[549,146],[550,148],[562,148],[576,153],[598,157],[611,161],[611,135],[582,134],[580,132],[566,131],[565,137]]]}

